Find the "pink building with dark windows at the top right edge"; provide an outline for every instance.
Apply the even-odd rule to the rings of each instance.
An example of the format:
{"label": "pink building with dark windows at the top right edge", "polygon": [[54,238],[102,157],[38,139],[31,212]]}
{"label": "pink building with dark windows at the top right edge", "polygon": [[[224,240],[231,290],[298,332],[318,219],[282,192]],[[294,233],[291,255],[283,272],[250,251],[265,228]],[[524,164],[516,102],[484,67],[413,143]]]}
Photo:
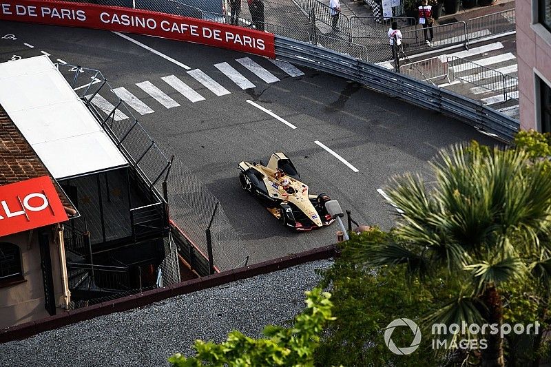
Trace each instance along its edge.
{"label": "pink building with dark windows at the top right edge", "polygon": [[516,0],[521,129],[551,132],[551,0]]}

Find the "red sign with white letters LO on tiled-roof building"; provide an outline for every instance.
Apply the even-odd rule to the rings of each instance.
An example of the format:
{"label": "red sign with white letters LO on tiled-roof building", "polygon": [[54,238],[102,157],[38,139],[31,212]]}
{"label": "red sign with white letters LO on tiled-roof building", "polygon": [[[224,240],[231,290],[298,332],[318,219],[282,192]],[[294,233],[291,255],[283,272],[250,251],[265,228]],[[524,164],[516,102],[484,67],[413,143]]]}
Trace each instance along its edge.
{"label": "red sign with white letters LO on tiled-roof building", "polygon": [[0,237],[68,219],[48,176],[0,186]]}

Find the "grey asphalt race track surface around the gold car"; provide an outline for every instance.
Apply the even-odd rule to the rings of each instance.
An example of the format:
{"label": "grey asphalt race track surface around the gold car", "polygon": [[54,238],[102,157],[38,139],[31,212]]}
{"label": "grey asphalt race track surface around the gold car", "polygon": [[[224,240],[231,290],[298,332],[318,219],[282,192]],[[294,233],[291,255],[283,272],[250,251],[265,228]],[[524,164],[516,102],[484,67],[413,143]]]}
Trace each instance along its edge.
{"label": "grey asphalt race track surface around the gold car", "polygon": [[[2,38],[13,34],[17,39]],[[300,67],[291,77],[269,60],[148,36],[132,39],[183,63],[200,68],[230,94],[216,96],[191,78],[183,67],[112,32],[24,23],[0,23],[0,61],[14,55],[50,54],[73,65],[101,70],[112,87],[125,87],[154,113],[136,116],[167,154],[176,154],[214,193],[251,255],[250,262],[335,242],[337,225],[293,233],[280,226],[238,184],[240,160],[264,160],[284,151],[312,193],[324,191],[352,211],[361,224],[389,228],[396,211],[377,193],[393,175],[406,171],[428,174],[427,162],[450,144],[477,139],[494,144],[472,127],[331,74]],[[28,43],[28,45],[24,45]],[[33,47],[30,48],[29,45]],[[280,78],[266,83],[236,62],[245,56]],[[227,62],[256,87],[241,90],[214,64]],[[161,81],[175,75],[205,97],[191,103]],[[179,107],[167,109],[136,87],[149,81],[174,98]],[[164,83],[164,84],[163,84]],[[297,129],[254,107],[270,109]],[[333,149],[355,172],[317,145]]]}

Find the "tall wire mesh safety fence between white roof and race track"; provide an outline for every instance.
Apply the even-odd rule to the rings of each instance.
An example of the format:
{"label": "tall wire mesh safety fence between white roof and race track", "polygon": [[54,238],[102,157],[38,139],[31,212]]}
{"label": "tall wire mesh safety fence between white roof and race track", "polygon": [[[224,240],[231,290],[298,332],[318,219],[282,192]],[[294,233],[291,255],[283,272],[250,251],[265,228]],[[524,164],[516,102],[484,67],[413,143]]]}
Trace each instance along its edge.
{"label": "tall wire mesh safety fence between white roof and race track", "polygon": [[[156,193],[158,200],[167,201],[171,220],[186,231],[201,253],[207,254],[205,231],[218,199],[181,160],[167,158],[121,99],[123,90],[112,87],[101,72],[63,64],[58,69],[136,169],[141,181]],[[142,214],[138,220],[147,224],[147,211]],[[216,269],[234,269],[247,258],[244,244],[220,207],[212,219],[211,240]],[[174,265],[174,256],[166,264]]]}

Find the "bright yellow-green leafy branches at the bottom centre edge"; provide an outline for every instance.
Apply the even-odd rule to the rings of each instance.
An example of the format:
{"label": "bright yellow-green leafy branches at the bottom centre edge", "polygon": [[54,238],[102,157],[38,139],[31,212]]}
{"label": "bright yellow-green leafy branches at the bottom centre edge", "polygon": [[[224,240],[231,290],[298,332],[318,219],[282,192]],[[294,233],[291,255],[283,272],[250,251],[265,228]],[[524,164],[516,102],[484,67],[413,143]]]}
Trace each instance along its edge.
{"label": "bright yellow-green leafy branches at the bottom centre edge", "polygon": [[331,294],[320,288],[306,292],[306,310],[295,317],[291,328],[266,326],[267,339],[253,339],[232,331],[221,344],[196,340],[195,357],[176,353],[168,361],[175,367],[198,366],[313,366],[313,351],[324,325],[331,315]]}

